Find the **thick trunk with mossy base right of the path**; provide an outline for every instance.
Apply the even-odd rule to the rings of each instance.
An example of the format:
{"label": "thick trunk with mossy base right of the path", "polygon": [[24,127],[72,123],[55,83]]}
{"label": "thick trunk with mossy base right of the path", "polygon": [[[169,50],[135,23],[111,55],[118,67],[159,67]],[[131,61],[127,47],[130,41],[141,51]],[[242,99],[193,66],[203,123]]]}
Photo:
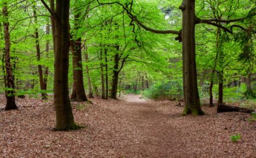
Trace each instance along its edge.
{"label": "thick trunk with mossy base right of the path", "polygon": [[195,1],[183,0],[182,10],[182,59],[183,59],[183,91],[185,109],[183,115],[202,115],[196,74],[196,44],[194,29],[196,24]]}

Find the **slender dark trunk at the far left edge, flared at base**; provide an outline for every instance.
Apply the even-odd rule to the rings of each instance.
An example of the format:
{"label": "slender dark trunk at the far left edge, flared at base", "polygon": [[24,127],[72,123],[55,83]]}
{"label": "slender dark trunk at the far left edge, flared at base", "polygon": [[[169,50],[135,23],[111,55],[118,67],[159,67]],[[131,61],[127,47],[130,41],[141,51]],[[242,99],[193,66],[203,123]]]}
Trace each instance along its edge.
{"label": "slender dark trunk at the far left edge, flared at base", "polygon": [[9,33],[9,16],[8,16],[8,8],[7,3],[4,2],[2,7],[2,16],[3,16],[3,24],[4,24],[4,41],[5,41],[5,69],[6,69],[6,83],[7,83],[7,90],[5,91],[6,94],[6,106],[5,111],[18,109],[15,104],[15,85],[14,85],[14,78],[12,73],[12,66],[10,62],[10,33]]}

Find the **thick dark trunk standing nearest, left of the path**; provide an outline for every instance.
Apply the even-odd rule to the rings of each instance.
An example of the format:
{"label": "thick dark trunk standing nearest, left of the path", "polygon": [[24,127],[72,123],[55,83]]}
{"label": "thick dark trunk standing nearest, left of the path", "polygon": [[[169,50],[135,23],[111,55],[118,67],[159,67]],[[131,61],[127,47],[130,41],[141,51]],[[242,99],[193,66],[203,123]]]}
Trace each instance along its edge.
{"label": "thick dark trunk standing nearest, left of the path", "polygon": [[54,18],[54,106],[56,130],[77,129],[68,94],[69,0],[56,0]]}

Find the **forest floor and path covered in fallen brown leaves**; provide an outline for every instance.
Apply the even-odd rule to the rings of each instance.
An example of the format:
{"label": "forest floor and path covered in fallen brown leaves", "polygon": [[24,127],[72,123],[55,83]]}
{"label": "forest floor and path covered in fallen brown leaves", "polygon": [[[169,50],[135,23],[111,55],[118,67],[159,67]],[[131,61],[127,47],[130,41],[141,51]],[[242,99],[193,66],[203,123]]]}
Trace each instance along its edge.
{"label": "forest floor and path covered in fallen brown leaves", "polygon": [[[17,99],[15,111],[0,111],[0,157],[255,157],[256,122],[250,114],[181,116],[176,101],[124,95],[119,101],[73,102],[78,131],[53,131],[52,99]],[[5,98],[0,95],[0,108]],[[21,107],[23,106],[23,107]],[[241,140],[231,142],[232,134]]]}

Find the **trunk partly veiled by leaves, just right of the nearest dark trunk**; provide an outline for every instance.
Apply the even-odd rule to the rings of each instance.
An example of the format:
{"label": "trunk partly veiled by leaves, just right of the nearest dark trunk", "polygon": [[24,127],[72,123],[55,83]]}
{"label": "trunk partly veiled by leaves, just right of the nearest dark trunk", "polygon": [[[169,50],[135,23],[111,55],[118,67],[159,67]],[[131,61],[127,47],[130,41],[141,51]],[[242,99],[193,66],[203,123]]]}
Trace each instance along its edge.
{"label": "trunk partly veiled by leaves, just right of the nearest dark trunk", "polygon": [[[77,1],[75,1],[75,5]],[[74,15],[74,32],[76,35],[72,35],[74,38],[71,43],[71,50],[73,54],[73,92],[71,94],[71,100],[73,101],[87,101],[84,88],[83,78],[83,66],[82,66],[82,43],[80,36],[77,35],[79,32],[80,22],[80,11],[75,7]]]}

